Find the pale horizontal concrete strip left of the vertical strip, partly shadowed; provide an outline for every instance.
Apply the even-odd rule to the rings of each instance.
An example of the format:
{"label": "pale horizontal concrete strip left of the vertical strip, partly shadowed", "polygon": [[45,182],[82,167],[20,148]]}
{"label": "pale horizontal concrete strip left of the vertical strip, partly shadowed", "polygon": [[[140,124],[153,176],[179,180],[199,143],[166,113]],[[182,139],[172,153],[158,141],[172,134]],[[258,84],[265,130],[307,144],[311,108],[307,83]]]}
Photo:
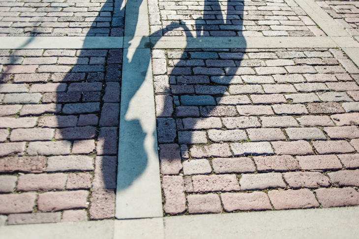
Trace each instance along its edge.
{"label": "pale horizontal concrete strip left of the vertical strip, partly shadowed", "polygon": [[109,49],[122,48],[122,36],[5,36],[0,49]]}

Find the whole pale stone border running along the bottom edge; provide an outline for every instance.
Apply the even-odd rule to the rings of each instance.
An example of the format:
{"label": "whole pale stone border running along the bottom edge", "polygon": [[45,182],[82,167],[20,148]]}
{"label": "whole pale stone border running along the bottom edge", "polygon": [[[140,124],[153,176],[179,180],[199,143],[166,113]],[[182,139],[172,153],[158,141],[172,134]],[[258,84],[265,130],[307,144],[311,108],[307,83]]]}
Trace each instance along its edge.
{"label": "whole pale stone border running along the bottom edge", "polygon": [[182,215],[0,227],[11,239],[358,238],[359,207]]}

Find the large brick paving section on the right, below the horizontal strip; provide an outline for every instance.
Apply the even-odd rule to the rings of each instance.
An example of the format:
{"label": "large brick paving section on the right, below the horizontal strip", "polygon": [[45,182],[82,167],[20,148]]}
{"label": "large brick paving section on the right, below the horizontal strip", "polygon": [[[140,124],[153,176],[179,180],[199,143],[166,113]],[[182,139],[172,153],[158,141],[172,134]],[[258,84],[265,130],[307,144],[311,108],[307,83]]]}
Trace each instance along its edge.
{"label": "large brick paving section on the right, below the horizontal strip", "polygon": [[166,214],[359,204],[359,69],[341,50],[152,57]]}

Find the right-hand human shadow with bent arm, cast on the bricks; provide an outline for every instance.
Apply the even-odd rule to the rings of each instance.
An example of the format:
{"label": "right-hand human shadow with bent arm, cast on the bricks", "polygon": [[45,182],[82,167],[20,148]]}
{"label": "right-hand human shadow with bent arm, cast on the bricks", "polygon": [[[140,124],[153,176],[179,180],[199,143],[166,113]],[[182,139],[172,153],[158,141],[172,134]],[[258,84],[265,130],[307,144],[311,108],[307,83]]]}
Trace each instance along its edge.
{"label": "right-hand human shadow with bent arm, cast on the bricks", "polygon": [[[223,3],[227,3],[227,6]],[[221,10],[223,8],[226,10]],[[225,117],[225,115],[218,114],[220,111],[218,108],[228,107],[228,105],[220,104],[221,99],[228,95],[227,90],[230,84],[239,83],[239,76],[236,72],[244,56],[245,41],[240,49],[196,48],[201,46],[201,42],[206,36],[242,37],[242,28],[243,2],[219,0],[205,1],[204,14],[196,19],[194,30],[188,29],[182,21],[167,27],[170,30],[181,29],[186,36],[186,46],[183,47],[180,57],[170,59],[173,68],[168,74],[172,78],[171,96],[174,98],[173,104],[176,106],[171,119],[173,119],[172,125],[176,125],[172,127],[176,128],[171,130],[168,126],[158,123],[160,148],[161,144],[177,143],[180,146],[182,160],[186,160],[189,158],[189,148],[198,144],[196,140],[198,130],[183,129],[181,120],[184,118]],[[161,109],[164,106],[157,106],[157,108]],[[181,110],[182,112],[177,115]],[[161,118],[169,117],[168,110],[163,110],[163,112],[162,115],[157,114],[160,121],[162,121]],[[179,121],[175,122],[177,119]],[[161,138],[161,132],[164,131],[171,131],[173,134],[177,131],[177,135],[173,135],[174,140],[168,137],[168,139]],[[169,158],[177,157],[170,156]],[[165,171],[162,173],[166,174]]]}

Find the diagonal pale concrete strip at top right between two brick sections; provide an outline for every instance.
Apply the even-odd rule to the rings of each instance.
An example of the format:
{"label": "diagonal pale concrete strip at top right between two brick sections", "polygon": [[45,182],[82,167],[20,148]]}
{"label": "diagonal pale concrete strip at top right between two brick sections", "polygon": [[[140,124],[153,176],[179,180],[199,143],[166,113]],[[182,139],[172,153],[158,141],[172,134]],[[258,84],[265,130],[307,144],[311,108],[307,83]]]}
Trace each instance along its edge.
{"label": "diagonal pale concrete strip at top right between two brick sections", "polygon": [[349,36],[314,0],[295,0],[308,16],[329,36]]}

